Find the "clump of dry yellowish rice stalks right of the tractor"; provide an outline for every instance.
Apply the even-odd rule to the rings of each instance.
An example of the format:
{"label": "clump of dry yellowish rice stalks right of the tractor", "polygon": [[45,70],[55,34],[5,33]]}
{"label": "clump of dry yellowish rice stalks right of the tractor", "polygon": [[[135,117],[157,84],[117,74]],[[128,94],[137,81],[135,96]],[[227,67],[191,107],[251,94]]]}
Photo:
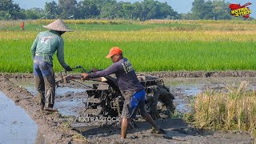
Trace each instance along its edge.
{"label": "clump of dry yellowish rice stalks right of the tractor", "polygon": [[212,90],[194,99],[194,124],[214,130],[247,130],[256,138],[256,94],[246,90],[247,82],[238,88],[227,86],[226,93]]}

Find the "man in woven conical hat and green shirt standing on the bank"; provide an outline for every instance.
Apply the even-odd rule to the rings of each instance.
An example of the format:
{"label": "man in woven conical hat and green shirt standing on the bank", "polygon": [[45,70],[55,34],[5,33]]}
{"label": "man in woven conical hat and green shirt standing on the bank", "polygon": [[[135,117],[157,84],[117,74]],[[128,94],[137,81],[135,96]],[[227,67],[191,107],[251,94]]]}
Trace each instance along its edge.
{"label": "man in woven conical hat and green shirt standing on the bank", "polygon": [[53,55],[57,51],[58,62],[66,71],[72,71],[64,60],[64,41],[61,37],[66,31],[72,30],[68,29],[61,19],[43,27],[49,31],[40,32],[31,46],[31,54],[34,59],[35,87],[41,98],[41,110],[54,110]]}

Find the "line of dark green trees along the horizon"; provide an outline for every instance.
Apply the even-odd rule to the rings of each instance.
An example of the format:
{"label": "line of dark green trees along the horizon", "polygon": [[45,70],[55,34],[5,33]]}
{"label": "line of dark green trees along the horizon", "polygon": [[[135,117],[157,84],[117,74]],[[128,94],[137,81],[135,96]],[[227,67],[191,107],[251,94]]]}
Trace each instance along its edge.
{"label": "line of dark green trees along the horizon", "polygon": [[187,14],[178,14],[167,2],[142,0],[117,2],[116,0],[58,0],[46,2],[44,8],[22,9],[13,0],[0,1],[0,20],[10,19],[86,19],[122,18],[145,21],[147,19],[231,19],[229,2],[225,0],[194,0]]}

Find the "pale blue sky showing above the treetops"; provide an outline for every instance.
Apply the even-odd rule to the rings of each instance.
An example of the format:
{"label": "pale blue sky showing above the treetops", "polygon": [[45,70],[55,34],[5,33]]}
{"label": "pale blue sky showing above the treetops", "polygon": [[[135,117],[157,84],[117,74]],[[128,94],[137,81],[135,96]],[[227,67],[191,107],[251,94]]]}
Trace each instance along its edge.
{"label": "pale blue sky showing above the treetops", "polygon": [[[13,0],[14,3],[17,3],[23,9],[30,9],[33,7],[44,8],[46,2],[52,2],[53,0]],[[58,0],[54,0],[58,3]],[[77,0],[79,2],[81,0]],[[118,0],[121,1],[121,0]],[[139,0],[122,0],[123,2],[138,2]],[[187,13],[190,12],[192,8],[192,2],[194,0],[158,0],[159,2],[167,2],[174,10],[178,13]],[[226,0],[225,2],[236,3],[244,5],[247,2],[252,4],[249,6],[252,11],[250,16],[256,18],[256,1],[255,0]]]}

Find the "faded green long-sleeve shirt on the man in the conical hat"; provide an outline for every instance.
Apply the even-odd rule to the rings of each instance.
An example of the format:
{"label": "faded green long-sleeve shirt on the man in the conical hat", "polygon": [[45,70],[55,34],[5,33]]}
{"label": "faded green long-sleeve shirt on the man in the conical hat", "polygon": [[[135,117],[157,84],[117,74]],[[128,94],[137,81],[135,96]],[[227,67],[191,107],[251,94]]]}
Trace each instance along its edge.
{"label": "faded green long-sleeve shirt on the man in the conical hat", "polygon": [[38,55],[51,65],[53,64],[53,55],[55,51],[57,51],[58,62],[63,68],[66,68],[67,65],[64,60],[64,41],[58,32],[54,30],[39,33],[31,46],[33,59],[35,55]]}

